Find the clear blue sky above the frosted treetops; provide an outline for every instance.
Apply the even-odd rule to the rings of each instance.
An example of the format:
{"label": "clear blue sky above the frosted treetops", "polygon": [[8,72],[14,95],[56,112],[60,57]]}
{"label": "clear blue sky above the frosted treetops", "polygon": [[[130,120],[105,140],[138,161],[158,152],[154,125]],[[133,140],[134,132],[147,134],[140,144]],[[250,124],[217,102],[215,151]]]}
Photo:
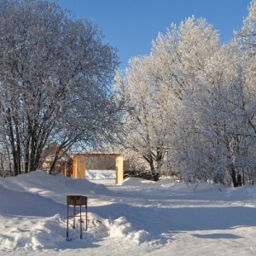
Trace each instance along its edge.
{"label": "clear blue sky above the frosted treetops", "polygon": [[104,42],[119,50],[122,62],[137,55],[148,55],[158,32],[166,32],[195,15],[203,17],[220,32],[222,43],[228,43],[234,30],[240,30],[251,0],[59,0],[62,8],[78,18],[91,19],[105,35]]}

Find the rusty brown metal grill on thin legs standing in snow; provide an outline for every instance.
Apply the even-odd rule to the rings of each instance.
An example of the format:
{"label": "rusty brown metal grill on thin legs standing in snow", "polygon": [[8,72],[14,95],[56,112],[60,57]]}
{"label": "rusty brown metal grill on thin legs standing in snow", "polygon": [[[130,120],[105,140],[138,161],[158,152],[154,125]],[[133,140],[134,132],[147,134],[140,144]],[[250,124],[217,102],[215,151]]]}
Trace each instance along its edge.
{"label": "rusty brown metal grill on thin legs standing in snow", "polygon": [[[79,222],[80,222],[80,239],[82,239],[82,206],[85,207],[85,226],[87,230],[87,196],[83,195],[67,195],[67,240],[68,239],[68,218],[73,217],[73,229],[75,228],[75,217],[76,217],[76,207],[79,207]],[[73,215],[69,215],[69,206],[73,206]]]}

